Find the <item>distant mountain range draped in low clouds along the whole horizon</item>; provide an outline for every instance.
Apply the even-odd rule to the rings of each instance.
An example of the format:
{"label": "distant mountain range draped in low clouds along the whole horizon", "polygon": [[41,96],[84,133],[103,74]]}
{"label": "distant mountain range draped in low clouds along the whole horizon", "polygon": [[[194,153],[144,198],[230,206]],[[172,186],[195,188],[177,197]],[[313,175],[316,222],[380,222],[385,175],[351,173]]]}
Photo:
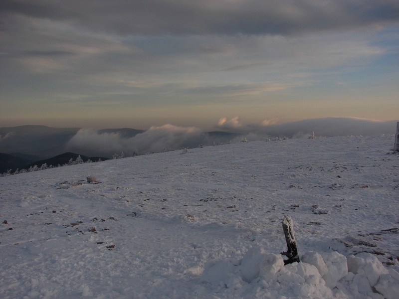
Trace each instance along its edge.
{"label": "distant mountain range draped in low clouds along the whole horizon", "polygon": [[[176,126],[161,126],[150,130],[131,128],[82,130],[81,128],[51,128],[46,126],[18,126],[0,128],[1,163],[20,166],[16,157],[42,161],[65,152],[79,152],[84,156],[112,157],[124,152],[151,153],[163,150],[254,141],[276,137],[306,138],[316,136],[378,136],[395,134],[397,121],[373,121],[356,118],[308,119],[277,125],[250,124],[217,127],[215,131],[192,130]],[[53,163],[52,163],[53,164]],[[56,163],[58,164],[58,162]],[[60,163],[62,164],[62,162]],[[10,167],[10,166],[8,166]],[[9,169],[9,168],[8,168]]]}

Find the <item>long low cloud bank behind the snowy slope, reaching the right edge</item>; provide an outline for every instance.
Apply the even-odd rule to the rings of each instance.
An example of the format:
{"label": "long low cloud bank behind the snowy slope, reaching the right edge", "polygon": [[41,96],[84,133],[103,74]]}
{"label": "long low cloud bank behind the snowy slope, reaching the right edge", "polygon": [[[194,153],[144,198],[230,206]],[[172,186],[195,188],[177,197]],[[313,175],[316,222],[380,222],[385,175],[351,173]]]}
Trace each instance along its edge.
{"label": "long low cloud bank behind the snowy slope, reaching the right edge", "polygon": [[[266,125],[265,125],[266,124]],[[117,133],[100,133],[82,129],[67,143],[67,149],[85,155],[112,156],[161,152],[165,150],[196,148],[221,143],[236,143],[272,138],[307,138],[313,132],[320,137],[378,136],[395,134],[396,122],[380,122],[361,119],[312,119],[280,125],[243,124],[238,117],[221,118],[215,131],[205,132],[195,127],[164,125],[151,127],[133,137],[121,137]]]}

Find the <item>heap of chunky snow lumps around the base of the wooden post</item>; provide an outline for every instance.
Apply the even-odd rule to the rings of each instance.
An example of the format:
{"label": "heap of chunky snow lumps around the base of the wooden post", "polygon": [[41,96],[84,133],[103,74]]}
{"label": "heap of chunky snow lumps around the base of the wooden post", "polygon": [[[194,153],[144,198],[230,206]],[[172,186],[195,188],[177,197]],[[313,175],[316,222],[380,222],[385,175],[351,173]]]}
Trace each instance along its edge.
{"label": "heap of chunky snow lumps around the base of the wooden post", "polygon": [[301,262],[284,266],[281,255],[253,247],[239,261],[205,265],[200,282],[235,290],[258,285],[268,298],[394,299],[399,294],[399,273],[370,253],[307,252]]}

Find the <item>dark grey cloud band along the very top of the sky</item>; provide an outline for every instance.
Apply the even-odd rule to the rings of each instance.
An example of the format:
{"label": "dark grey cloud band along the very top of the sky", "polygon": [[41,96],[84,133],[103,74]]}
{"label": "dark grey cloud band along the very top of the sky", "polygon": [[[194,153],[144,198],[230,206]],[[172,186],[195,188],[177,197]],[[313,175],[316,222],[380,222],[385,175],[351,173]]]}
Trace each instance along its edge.
{"label": "dark grey cloud band along the very top of the sky", "polygon": [[3,14],[118,34],[296,34],[398,22],[396,0],[13,0]]}

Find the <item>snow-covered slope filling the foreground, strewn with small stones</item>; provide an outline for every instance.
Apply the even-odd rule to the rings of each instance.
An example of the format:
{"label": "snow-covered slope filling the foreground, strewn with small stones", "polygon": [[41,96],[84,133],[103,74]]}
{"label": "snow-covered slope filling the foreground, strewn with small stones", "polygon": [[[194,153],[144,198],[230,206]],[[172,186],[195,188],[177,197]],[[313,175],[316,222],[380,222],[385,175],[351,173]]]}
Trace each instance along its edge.
{"label": "snow-covered slope filling the foreground, strewn with small stones", "polygon": [[[397,298],[393,145],[251,142],[0,177],[0,298]],[[285,215],[302,258],[287,266]]]}

